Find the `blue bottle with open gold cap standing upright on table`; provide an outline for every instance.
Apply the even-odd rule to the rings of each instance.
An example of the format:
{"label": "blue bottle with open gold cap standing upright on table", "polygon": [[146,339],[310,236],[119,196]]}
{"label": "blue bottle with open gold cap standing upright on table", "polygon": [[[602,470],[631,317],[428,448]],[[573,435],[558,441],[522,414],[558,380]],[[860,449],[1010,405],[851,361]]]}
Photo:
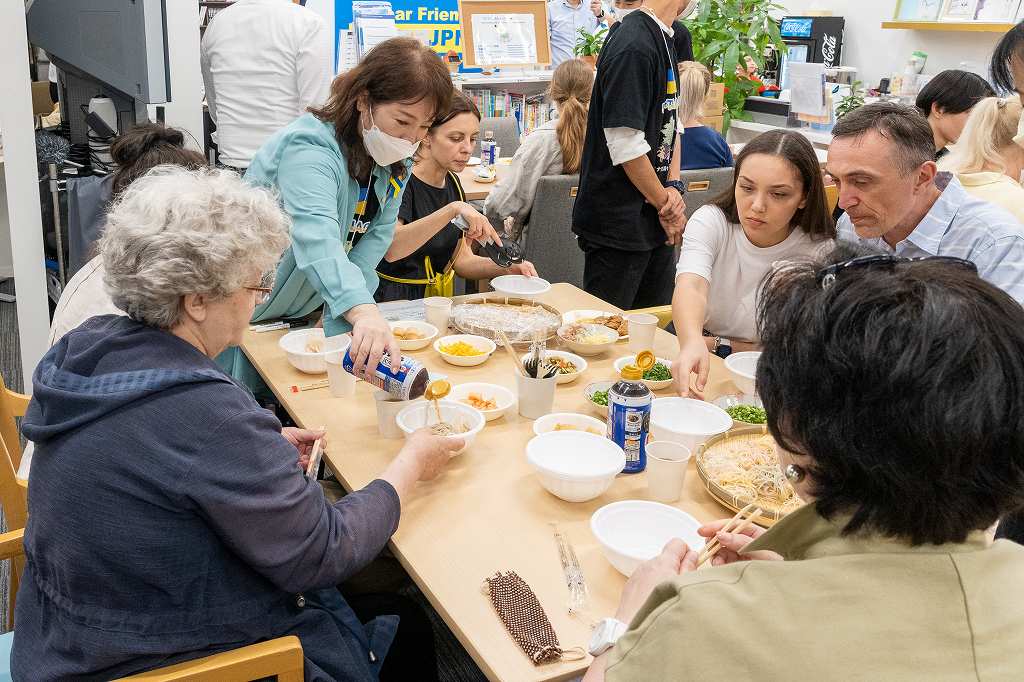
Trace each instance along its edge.
{"label": "blue bottle with open gold cap standing upright on table", "polygon": [[635,364],[623,368],[621,379],[608,389],[608,438],[626,453],[623,473],[647,468],[647,433],[653,397],[643,383],[643,373],[654,365],[649,350],[639,353]]}

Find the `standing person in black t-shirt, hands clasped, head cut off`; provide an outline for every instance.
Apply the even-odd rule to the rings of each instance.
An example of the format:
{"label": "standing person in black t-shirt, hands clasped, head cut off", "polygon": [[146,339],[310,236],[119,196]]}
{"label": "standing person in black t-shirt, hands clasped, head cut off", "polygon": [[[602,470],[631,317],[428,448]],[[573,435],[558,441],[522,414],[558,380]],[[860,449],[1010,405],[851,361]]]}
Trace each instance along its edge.
{"label": "standing person in black t-shirt, hands clasped, head cut off", "polygon": [[647,0],[620,23],[597,65],[572,231],[584,288],[624,309],[672,299],[679,183],[673,19],[689,0]]}

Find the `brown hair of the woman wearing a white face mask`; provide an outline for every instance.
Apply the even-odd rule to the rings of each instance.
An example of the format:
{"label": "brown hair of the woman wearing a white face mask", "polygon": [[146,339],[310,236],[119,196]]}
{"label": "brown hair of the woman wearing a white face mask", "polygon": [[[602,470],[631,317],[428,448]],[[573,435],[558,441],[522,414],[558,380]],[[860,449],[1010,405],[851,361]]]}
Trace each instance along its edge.
{"label": "brown hair of the woman wearing a white face mask", "polygon": [[[349,175],[361,178],[373,169],[374,160],[362,145],[359,110],[355,105],[359,97],[366,96],[370,104],[415,104],[426,99],[433,112],[431,118],[436,118],[447,109],[452,90],[447,68],[433,50],[415,38],[391,38],[335,78],[324,106],[309,111],[334,124],[338,145],[348,160]],[[399,175],[401,162],[392,164],[391,172]]]}

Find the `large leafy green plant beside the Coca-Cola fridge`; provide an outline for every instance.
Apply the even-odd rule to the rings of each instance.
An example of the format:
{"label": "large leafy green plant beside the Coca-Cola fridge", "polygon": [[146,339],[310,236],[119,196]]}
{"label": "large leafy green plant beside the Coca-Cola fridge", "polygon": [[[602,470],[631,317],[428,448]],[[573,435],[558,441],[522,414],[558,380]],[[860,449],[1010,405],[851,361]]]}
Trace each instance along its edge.
{"label": "large leafy green plant beside the Coca-Cola fridge", "polygon": [[750,120],[743,103],[762,87],[761,81],[738,76],[737,68],[745,74],[750,57],[763,69],[769,45],[785,53],[778,23],[772,17],[784,11],[773,0],[700,0],[696,13],[686,22],[693,36],[693,58],[725,84],[723,133],[732,119]]}

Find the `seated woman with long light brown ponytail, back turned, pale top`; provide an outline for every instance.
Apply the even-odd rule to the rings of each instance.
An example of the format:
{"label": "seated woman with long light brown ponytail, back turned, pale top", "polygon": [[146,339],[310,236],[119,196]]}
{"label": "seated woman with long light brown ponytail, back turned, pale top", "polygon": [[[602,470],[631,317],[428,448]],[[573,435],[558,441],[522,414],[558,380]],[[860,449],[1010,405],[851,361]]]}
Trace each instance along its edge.
{"label": "seated woman with long light brown ponytail, back turned, pale top", "polygon": [[548,94],[558,118],[526,135],[507,174],[487,196],[483,211],[493,224],[515,218],[512,237],[518,238],[534,208],[541,177],[580,172],[593,87],[594,71],[585,61],[569,59],[555,69]]}

